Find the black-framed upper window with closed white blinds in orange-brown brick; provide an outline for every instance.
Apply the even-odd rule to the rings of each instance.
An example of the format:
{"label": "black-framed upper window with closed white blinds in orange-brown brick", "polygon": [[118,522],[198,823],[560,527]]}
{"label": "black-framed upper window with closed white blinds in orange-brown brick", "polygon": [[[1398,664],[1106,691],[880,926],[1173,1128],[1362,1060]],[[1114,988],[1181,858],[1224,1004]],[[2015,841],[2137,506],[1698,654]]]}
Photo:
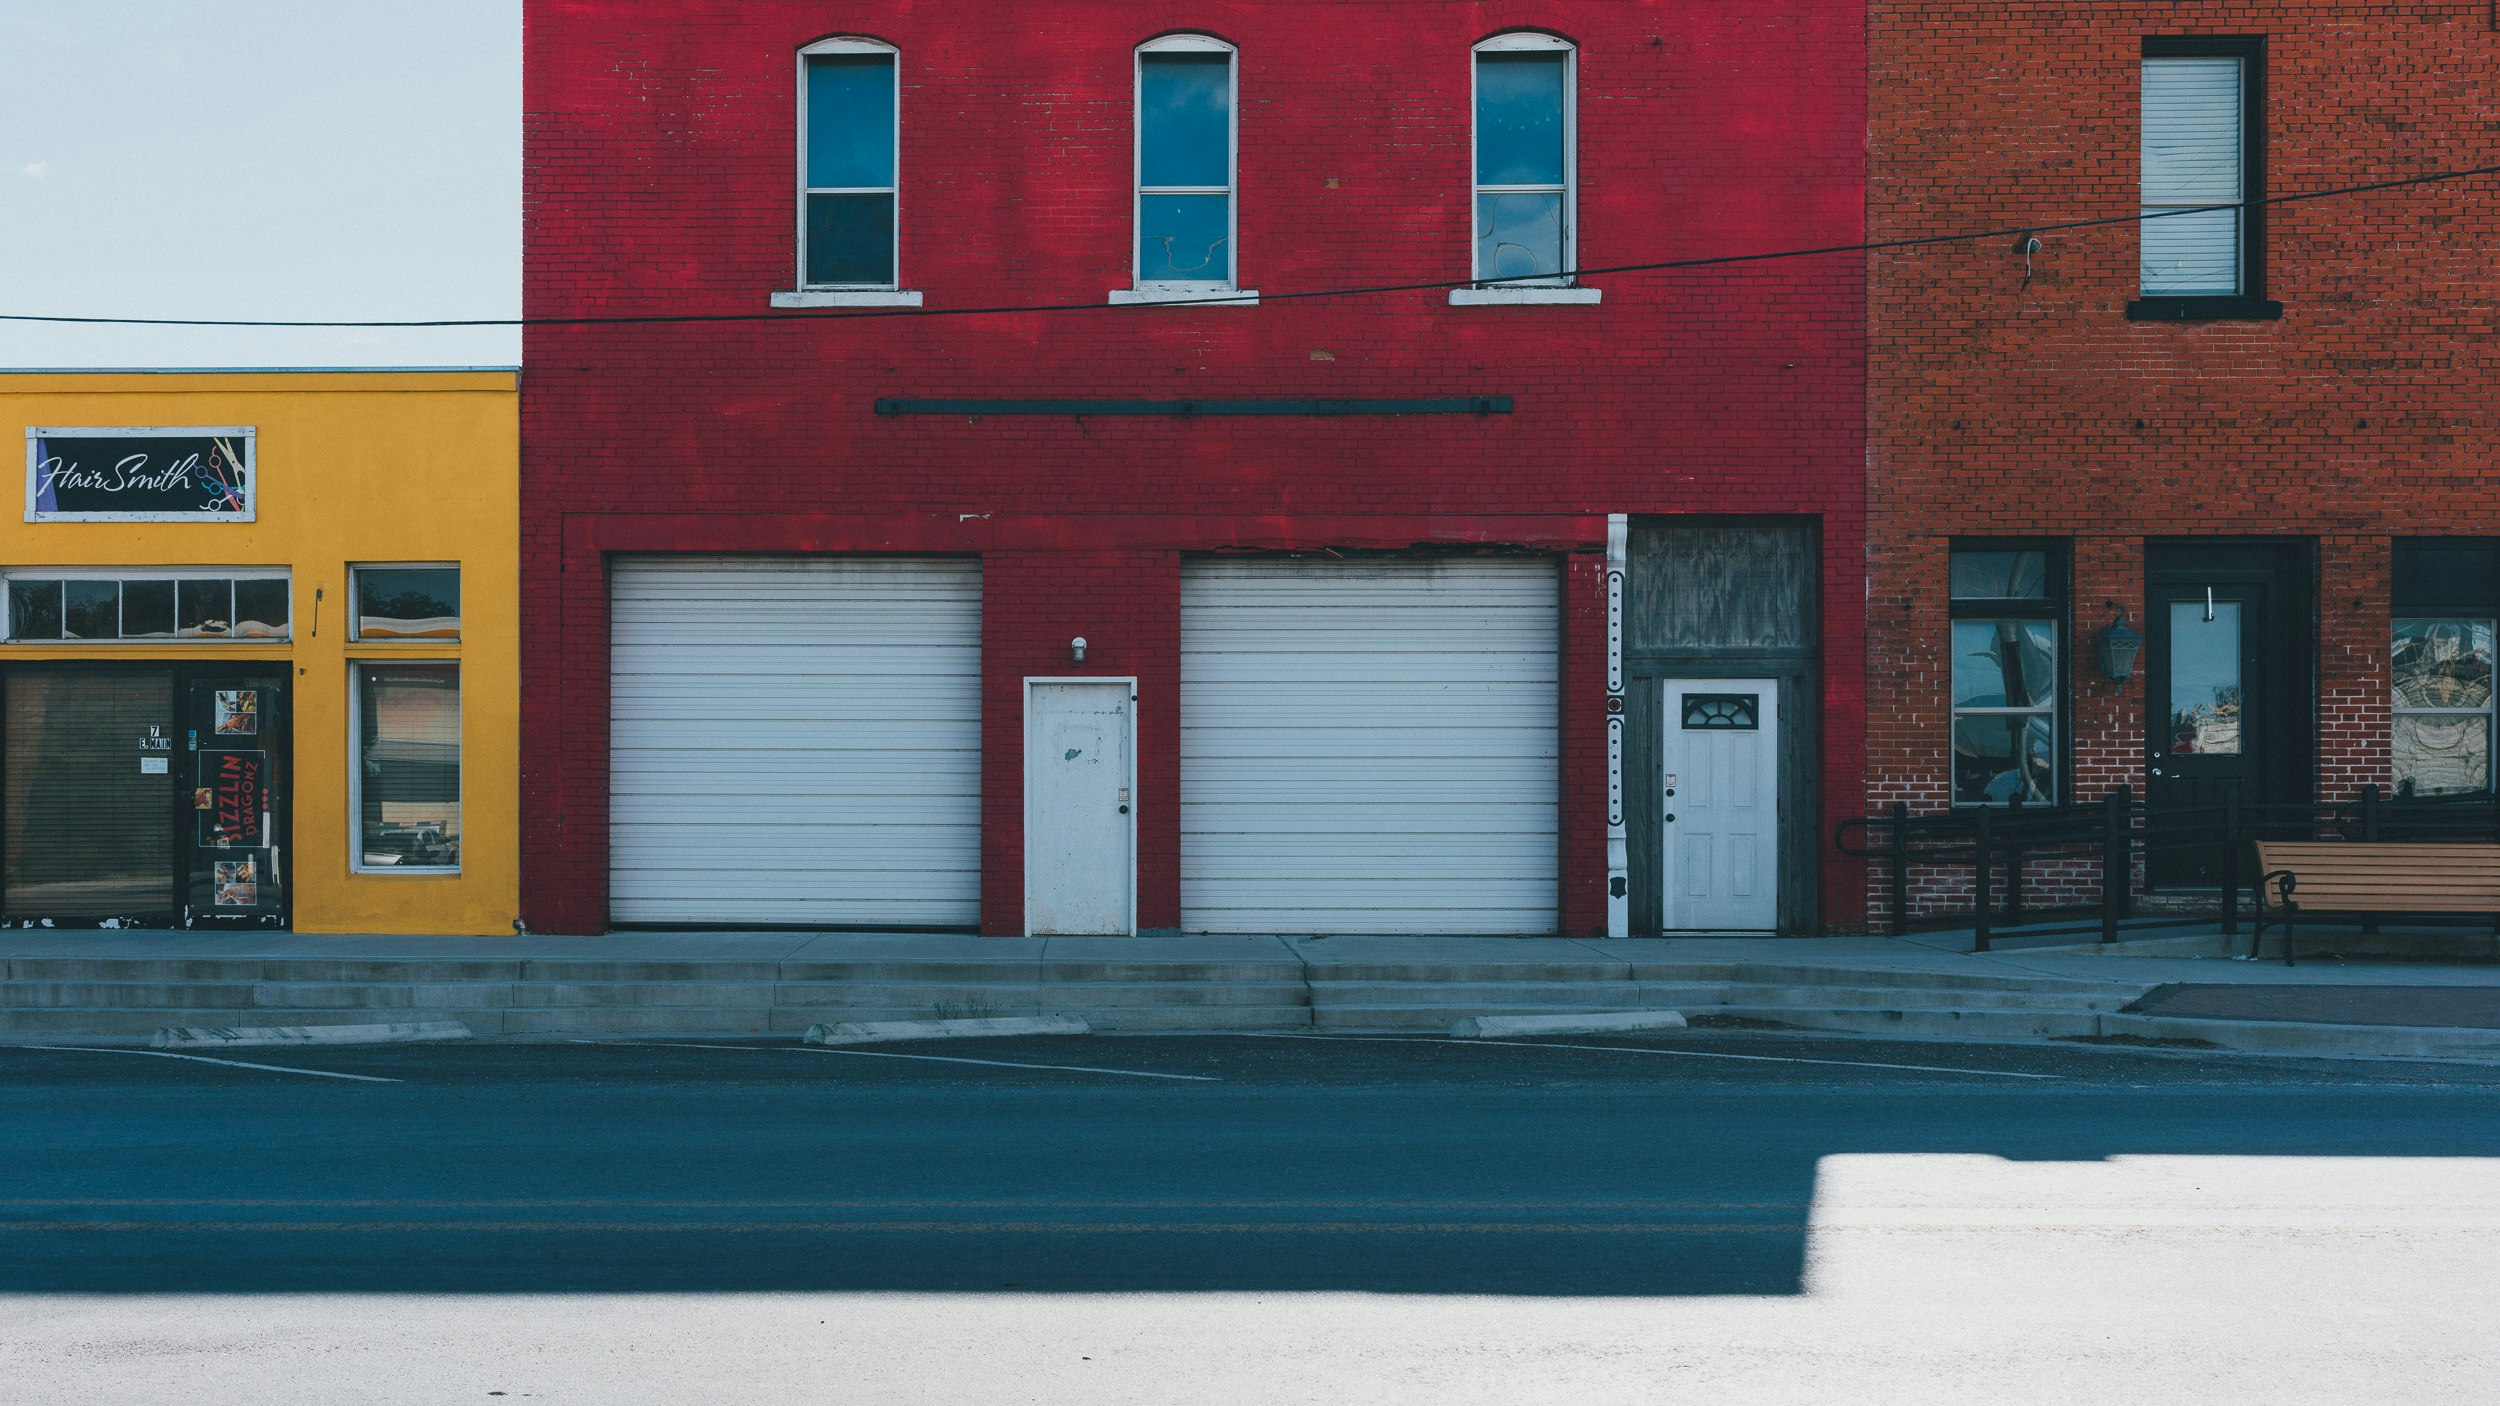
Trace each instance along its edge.
{"label": "black-framed upper window with closed white blinds in orange-brown brick", "polygon": [[2278,315],[2265,285],[2262,40],[2150,38],[2135,318]]}

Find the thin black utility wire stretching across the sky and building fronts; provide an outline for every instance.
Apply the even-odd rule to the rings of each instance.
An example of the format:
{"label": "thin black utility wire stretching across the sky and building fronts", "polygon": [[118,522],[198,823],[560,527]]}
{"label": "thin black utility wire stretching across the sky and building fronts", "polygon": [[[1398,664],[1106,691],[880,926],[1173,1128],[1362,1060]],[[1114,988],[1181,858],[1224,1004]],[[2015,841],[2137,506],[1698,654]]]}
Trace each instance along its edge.
{"label": "thin black utility wire stretching across the sky and building fronts", "polygon": [[[2292,195],[2268,195],[2255,200],[2255,205],[2300,205],[2308,200],[2332,200],[2338,195],[2368,195],[2372,190],[2405,190],[2412,185],[2438,185],[2448,180],[2470,180],[2478,175],[2500,175],[2500,165],[2470,165],[2458,170],[2435,170],[2430,175],[2408,175],[2400,180],[2370,180],[2365,185],[2332,185],[2328,190],[2300,190]],[[2108,225],[2140,225],[2145,220],[2168,220],[2172,215],[2210,215],[2215,210],[2245,210],[2250,203],[2230,205],[2198,205],[2180,210],[2152,210],[2135,215],[2100,215],[2092,220],[2058,220],[2048,225],[2002,225],[1992,230],[1962,230],[1952,235],[1912,235],[1900,240],[1868,240],[1855,245],[1815,245],[1798,250],[1772,250],[1772,253],[1730,253],[1710,258],[1668,258],[1652,263],[1615,263],[1605,268],[1572,268],[1562,273],[1522,273],[1512,278],[1440,278],[1430,283],[1370,283],[1360,288],[1310,288],[1302,293],[1260,293],[1260,303],[1295,303],[1308,298],[1368,298],[1375,293],[1430,293],[1440,288],[1495,288],[1505,283],[1550,283],[1555,278],[1598,278],[1608,273],[1662,273],[1678,268],[1722,268],[1732,263],[1772,263],[1790,258],[1822,258],[1835,253],[1885,253],[1885,250],[1912,250],[1932,245],[1958,245],[1972,240],[2002,240],[2010,235],[2048,235],[2058,230],[2100,230]],[[1205,298],[1158,298],[1152,303],[1130,303],[1128,308],[1188,308],[1188,305],[1222,305],[1240,303],[1238,293],[1210,293]],[[1105,308],[1122,308],[1122,303],[1008,303],[995,308],[850,308],[850,310],[772,310],[772,313],[618,313],[618,315],[590,315],[590,318],[425,318],[425,320],[278,320],[278,318],[70,318],[70,315],[45,315],[45,313],[0,313],[0,323],[80,323],[80,325],[108,325],[108,328],[625,328],[625,325],[668,325],[668,323],[852,323],[865,318],[982,318],[1002,313],[1098,313]]]}

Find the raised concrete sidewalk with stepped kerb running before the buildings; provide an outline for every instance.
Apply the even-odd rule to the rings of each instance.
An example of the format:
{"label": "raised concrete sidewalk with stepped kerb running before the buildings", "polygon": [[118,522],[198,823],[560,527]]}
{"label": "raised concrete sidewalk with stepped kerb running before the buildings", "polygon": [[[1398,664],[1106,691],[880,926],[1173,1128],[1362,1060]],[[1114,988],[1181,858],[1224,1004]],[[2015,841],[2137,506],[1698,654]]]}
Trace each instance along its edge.
{"label": "raised concrete sidewalk with stepped kerb running before the buildings", "polygon": [[[2242,938],[2245,941],[2245,938]],[[2220,933],[1970,953],[1915,938],[420,938],[0,933],[0,1038],[462,1021],[480,1036],[800,1033],[1075,1016],[1098,1031],[1448,1031],[1462,1016],[1685,1011],[1695,1026],[2500,1058],[2500,963],[2178,956]]]}

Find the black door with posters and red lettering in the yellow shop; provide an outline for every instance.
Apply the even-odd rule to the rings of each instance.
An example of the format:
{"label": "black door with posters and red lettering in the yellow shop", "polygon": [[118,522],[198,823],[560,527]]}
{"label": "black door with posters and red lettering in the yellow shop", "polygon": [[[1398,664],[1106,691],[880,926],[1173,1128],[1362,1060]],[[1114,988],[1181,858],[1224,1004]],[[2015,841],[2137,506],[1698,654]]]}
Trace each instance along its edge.
{"label": "black door with posters and red lettering in the yellow shop", "polygon": [[182,688],[190,816],[182,918],[190,928],[288,923],[285,673],[192,670]]}

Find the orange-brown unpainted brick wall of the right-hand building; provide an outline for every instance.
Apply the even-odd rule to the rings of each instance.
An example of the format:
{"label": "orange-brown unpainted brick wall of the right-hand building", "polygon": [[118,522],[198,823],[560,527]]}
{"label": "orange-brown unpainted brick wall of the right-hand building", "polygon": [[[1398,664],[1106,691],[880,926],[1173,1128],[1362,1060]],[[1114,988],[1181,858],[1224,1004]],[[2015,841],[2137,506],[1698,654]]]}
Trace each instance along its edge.
{"label": "orange-brown unpainted brick wall of the right-hand building", "polygon": [[[2500,150],[2490,0],[1875,0],[1868,25],[1872,240],[2132,213],[2145,35],[2265,35],[2270,195]],[[2478,178],[2275,205],[2278,323],[2130,323],[2132,225],[2045,233],[2028,280],[2012,238],[1872,255],[1868,806],[1948,803],[1955,535],[2075,543],[2078,801],[2145,786],[2142,675],[2090,658],[2112,603],[2145,623],[2145,540],[2315,540],[2320,801],[2385,786],[2388,538],[2500,533],[2495,200]],[[2030,878],[2098,898],[2098,866]],[[1968,906],[1968,873],[1920,903]]]}

